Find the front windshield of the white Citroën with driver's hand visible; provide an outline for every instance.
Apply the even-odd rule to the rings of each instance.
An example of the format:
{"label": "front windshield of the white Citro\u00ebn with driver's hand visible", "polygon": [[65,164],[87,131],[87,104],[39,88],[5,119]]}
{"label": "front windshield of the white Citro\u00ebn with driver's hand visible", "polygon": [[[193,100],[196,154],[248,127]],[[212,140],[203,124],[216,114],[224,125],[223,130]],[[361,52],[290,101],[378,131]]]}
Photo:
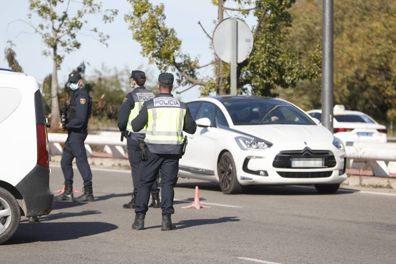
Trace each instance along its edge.
{"label": "front windshield of the white Citro\u00ebn with driver's hand visible", "polygon": [[284,101],[257,99],[222,103],[234,125],[316,125],[307,115]]}

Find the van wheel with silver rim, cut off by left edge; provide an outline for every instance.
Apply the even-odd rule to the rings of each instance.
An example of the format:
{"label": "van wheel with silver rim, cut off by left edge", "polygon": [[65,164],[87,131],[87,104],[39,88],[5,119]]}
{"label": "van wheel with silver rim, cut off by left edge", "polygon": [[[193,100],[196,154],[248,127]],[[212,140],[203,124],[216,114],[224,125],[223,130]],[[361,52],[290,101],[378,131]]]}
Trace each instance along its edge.
{"label": "van wheel with silver rim, cut off by left edge", "polygon": [[0,245],[10,239],[21,221],[21,211],[15,197],[0,187]]}

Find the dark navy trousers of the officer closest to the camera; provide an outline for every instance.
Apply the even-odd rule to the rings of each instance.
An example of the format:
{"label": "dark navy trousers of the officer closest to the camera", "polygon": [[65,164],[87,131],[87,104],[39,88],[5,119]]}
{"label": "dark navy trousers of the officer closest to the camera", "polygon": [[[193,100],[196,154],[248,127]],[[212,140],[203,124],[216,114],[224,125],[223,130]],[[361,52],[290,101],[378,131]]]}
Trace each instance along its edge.
{"label": "dark navy trousers of the officer closest to the camera", "polygon": [[140,165],[140,186],[137,192],[135,213],[147,212],[150,190],[156,182],[158,171],[161,175],[161,209],[163,215],[171,215],[173,209],[173,185],[179,171],[180,155],[154,154],[147,148],[147,161]]}

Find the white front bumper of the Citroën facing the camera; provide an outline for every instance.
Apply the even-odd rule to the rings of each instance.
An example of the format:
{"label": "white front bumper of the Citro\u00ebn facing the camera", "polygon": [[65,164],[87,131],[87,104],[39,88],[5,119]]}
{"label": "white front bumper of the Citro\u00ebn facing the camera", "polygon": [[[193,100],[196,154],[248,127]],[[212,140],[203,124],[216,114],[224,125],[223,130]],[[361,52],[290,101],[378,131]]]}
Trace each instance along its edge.
{"label": "white front bumper of the Citro\u00ebn facing the camera", "polygon": [[[323,149],[323,148],[322,148]],[[299,148],[296,148],[299,150]],[[280,150],[279,150],[280,151]],[[246,151],[243,162],[237,161],[237,178],[241,185],[253,184],[337,184],[346,179],[345,151],[336,148],[333,152],[336,165],[331,168],[275,168],[272,162],[278,150],[270,152]],[[249,155],[250,154],[250,155]],[[294,177],[296,173],[304,175],[303,178]],[[293,176],[290,177],[290,174]],[[285,177],[282,177],[284,175]],[[286,177],[286,175],[288,175]],[[324,177],[318,177],[324,176]],[[300,176],[299,176],[300,177]]]}

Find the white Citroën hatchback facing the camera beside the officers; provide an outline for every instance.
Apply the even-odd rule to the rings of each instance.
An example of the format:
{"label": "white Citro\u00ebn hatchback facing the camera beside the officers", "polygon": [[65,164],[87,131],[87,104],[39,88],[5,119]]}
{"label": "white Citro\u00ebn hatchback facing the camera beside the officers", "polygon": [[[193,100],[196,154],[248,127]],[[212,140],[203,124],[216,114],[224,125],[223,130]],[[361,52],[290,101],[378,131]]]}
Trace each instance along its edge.
{"label": "white Citro\u00ebn hatchback facing the camera beside the officers", "polygon": [[187,104],[198,128],[187,134],[179,177],[219,182],[225,194],[252,184],[315,184],[335,192],[346,179],[342,141],[294,104],[244,95]]}

